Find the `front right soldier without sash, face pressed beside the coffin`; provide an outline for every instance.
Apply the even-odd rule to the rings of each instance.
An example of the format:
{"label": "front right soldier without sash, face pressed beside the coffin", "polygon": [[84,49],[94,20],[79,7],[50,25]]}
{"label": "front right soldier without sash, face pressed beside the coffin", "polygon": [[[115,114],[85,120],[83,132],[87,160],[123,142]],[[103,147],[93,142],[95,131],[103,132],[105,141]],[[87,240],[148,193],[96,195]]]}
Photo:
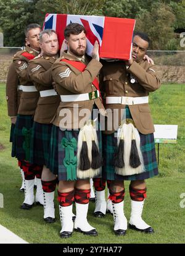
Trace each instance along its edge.
{"label": "front right soldier without sash, face pressed beside the coffin", "polygon": [[[148,47],[148,36],[135,33],[130,61],[105,62],[102,68],[105,106],[113,114],[113,123],[108,118],[102,140],[102,177],[112,180],[110,199],[115,222],[113,229],[117,235],[125,235],[127,229],[123,212],[124,180],[131,181],[130,228],[144,233],[154,232],[141,217],[146,198],[145,179],[158,174],[154,125],[148,102],[149,93],[160,87],[160,80],[155,66],[143,59]],[[118,124],[115,109],[118,110]]]}

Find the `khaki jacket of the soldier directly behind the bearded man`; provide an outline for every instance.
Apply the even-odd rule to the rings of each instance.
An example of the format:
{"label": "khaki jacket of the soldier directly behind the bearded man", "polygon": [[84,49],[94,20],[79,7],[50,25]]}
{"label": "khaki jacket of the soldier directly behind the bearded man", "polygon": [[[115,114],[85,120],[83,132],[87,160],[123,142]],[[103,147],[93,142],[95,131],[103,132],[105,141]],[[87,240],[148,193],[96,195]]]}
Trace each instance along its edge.
{"label": "khaki jacket of the soldier directly behind the bearded man", "polygon": [[[53,80],[51,71],[56,58],[58,58],[58,56],[43,56],[29,61],[28,74],[39,92],[54,89],[52,87]],[[46,97],[39,96],[34,121],[41,124],[49,124],[55,116],[59,103],[59,95]]]}

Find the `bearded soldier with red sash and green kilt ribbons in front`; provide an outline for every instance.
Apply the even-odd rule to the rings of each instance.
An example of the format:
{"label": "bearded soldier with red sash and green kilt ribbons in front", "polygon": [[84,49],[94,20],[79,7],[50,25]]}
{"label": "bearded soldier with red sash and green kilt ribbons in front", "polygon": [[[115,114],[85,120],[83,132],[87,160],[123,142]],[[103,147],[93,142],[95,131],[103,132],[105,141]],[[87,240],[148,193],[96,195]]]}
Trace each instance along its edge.
{"label": "bearded soldier with red sash and green kilt ribbons in front", "polygon": [[[78,23],[70,23],[64,31],[68,51],[53,65],[52,76],[60,95],[60,105],[53,121],[49,168],[59,179],[59,211],[62,229],[60,236],[72,236],[72,204],[75,200],[75,230],[97,236],[87,220],[89,178],[101,175],[101,135],[91,119],[93,106],[104,106],[99,92],[97,75],[99,62],[97,42],[92,59],[86,52],[86,31]],[[81,114],[80,114],[81,111]]]}

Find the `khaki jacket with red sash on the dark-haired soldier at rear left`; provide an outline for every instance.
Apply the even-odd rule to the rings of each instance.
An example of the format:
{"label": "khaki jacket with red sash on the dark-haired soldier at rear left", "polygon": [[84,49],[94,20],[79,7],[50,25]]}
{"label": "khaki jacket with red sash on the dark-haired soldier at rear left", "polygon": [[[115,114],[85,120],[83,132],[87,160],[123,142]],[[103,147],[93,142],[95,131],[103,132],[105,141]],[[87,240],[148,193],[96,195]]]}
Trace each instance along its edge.
{"label": "khaki jacket with red sash on the dark-haired soldier at rear left", "polygon": [[[25,54],[25,55],[24,55]],[[31,49],[29,46],[23,51],[19,51],[14,55],[15,70],[19,77],[20,85],[33,85],[33,82],[28,77],[27,66],[30,59],[38,56],[38,53]],[[38,102],[38,92],[22,92],[20,97],[20,105],[18,114],[32,115],[35,113],[36,105]]]}

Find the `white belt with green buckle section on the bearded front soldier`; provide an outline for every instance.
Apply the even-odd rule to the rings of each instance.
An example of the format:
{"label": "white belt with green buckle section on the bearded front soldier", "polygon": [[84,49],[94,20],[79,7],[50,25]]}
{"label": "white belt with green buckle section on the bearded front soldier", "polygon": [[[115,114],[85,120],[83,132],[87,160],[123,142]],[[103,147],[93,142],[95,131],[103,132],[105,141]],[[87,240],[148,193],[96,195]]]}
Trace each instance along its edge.
{"label": "white belt with green buckle section on the bearded front soldier", "polygon": [[[97,96],[94,96],[94,93],[97,93]],[[94,91],[91,93],[81,93],[74,95],[60,95],[62,102],[70,102],[70,101],[84,101],[84,100],[93,100],[99,97],[99,91]]]}

